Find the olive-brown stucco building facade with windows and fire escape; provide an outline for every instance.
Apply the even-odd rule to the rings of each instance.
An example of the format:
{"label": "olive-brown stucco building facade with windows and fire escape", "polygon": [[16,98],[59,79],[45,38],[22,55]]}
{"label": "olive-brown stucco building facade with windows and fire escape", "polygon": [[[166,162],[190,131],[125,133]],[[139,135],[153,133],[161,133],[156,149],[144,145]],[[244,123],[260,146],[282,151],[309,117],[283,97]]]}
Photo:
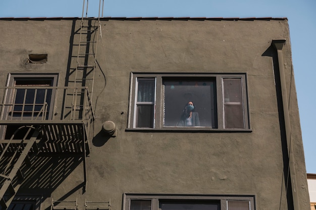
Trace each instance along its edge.
{"label": "olive-brown stucco building facade with windows and fire escape", "polygon": [[2,208],[309,209],[286,18],[99,21],[0,19]]}

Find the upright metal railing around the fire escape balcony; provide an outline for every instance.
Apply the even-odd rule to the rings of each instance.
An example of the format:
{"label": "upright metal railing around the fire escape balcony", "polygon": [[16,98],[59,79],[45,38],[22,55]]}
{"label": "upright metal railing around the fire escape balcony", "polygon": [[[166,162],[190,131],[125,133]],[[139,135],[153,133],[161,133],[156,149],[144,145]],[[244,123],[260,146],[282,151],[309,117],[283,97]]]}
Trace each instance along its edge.
{"label": "upright metal railing around the fire escape balcony", "polygon": [[[11,120],[86,121],[93,118],[86,87],[0,87],[0,98],[3,98],[0,103],[1,124]],[[48,107],[51,104],[54,107],[40,111],[38,107],[42,108],[45,103],[50,103]],[[48,117],[50,111],[52,113]],[[38,115],[39,112],[46,116]]]}

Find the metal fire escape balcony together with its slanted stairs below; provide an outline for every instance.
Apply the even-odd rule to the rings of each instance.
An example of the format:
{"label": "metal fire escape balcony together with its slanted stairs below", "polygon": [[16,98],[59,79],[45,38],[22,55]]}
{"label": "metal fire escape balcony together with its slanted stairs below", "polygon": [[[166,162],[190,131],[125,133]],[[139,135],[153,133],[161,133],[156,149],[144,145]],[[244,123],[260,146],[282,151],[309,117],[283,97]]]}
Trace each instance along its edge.
{"label": "metal fire escape balcony together with its slanted stairs below", "polygon": [[[54,108],[47,109],[47,101],[36,102],[37,90],[45,92],[44,98],[50,93],[52,103],[49,106]],[[16,93],[21,91],[24,92],[23,102],[16,103]],[[27,101],[29,93],[35,93],[33,103]],[[23,173],[32,166],[35,156],[82,157],[85,191],[86,156],[90,153],[94,121],[88,89],[4,87],[0,88],[0,95],[4,96],[0,102],[0,208],[9,207],[23,183]],[[39,106],[42,106],[40,110],[34,110]],[[30,107],[33,110],[28,111]],[[14,133],[10,137],[11,132]]]}

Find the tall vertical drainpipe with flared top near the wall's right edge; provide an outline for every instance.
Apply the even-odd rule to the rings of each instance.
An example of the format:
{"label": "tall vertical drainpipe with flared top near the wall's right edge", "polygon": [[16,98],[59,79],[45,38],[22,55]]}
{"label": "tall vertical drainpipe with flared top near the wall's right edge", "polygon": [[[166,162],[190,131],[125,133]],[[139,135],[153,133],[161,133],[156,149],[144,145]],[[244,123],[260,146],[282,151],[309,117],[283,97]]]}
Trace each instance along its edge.
{"label": "tall vertical drainpipe with flared top near the wall's right edge", "polygon": [[281,92],[282,92],[282,104],[283,104],[283,114],[285,122],[285,133],[286,133],[286,143],[289,156],[289,168],[290,168],[290,177],[292,184],[292,195],[293,195],[293,205],[294,210],[299,210],[299,199],[297,192],[297,183],[296,183],[296,172],[295,172],[295,162],[293,155],[293,147],[291,142],[291,123],[290,123],[290,114],[288,107],[288,95],[286,91],[286,82],[285,82],[285,71],[284,71],[284,61],[282,48],[285,44],[285,39],[272,40],[273,46],[278,52],[278,61],[279,61],[279,72],[280,72],[280,81],[281,81]]}

